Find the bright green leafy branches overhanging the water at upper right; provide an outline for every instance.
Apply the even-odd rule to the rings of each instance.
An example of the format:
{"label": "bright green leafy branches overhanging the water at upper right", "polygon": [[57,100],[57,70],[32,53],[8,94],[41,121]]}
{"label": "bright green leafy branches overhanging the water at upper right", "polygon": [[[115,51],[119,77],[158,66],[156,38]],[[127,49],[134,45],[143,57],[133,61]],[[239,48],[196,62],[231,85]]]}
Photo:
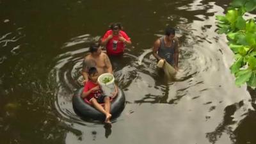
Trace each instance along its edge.
{"label": "bright green leafy branches overhanging the water at upper right", "polygon": [[228,46],[234,52],[230,67],[236,77],[236,85],[256,87],[256,23],[246,13],[256,8],[256,0],[233,0],[225,15],[217,15],[218,33],[225,33]]}

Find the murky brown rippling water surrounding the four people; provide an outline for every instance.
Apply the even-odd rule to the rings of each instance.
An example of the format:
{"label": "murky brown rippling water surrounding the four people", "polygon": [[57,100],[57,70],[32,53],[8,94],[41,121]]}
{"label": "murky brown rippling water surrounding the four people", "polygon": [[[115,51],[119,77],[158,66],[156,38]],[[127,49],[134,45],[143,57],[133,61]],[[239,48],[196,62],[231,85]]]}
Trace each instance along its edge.
{"label": "murky brown rippling water surrounding the four people", "polygon": [[[255,99],[234,84],[233,54],[216,33],[229,2],[0,1],[1,143],[256,143]],[[111,22],[132,47],[111,58],[126,104],[108,127],[77,116],[72,95],[90,42]],[[151,53],[167,25],[181,44],[175,81]]]}

